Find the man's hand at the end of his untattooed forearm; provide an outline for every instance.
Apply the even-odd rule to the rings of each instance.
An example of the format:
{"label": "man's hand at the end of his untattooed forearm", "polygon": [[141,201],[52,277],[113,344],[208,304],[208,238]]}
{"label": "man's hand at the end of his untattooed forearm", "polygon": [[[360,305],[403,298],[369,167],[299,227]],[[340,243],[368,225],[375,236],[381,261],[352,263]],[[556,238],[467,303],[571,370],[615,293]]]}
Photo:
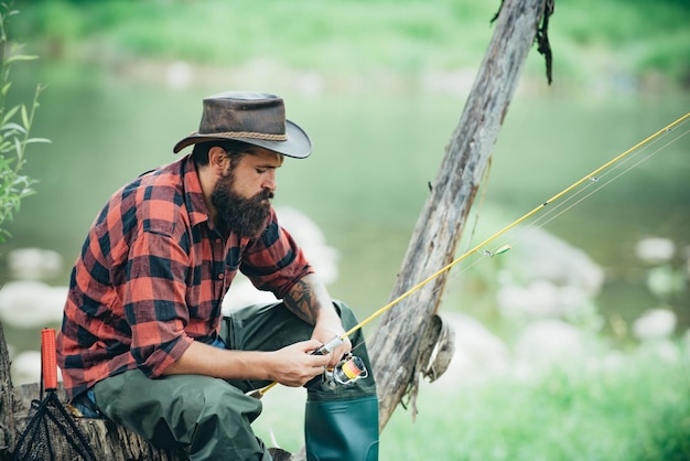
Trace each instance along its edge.
{"label": "man's hand at the end of his untattooed forearm", "polygon": [[321,346],[314,340],[302,341],[280,349],[272,354],[271,379],[290,387],[305,385],[323,373],[331,355],[312,355]]}

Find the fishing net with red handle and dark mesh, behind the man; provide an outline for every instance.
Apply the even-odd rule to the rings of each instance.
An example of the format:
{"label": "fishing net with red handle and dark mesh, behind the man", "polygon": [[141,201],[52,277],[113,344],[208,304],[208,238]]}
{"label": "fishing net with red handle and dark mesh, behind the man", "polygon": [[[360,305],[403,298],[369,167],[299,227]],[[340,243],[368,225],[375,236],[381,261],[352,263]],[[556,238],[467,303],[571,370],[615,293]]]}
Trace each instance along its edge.
{"label": "fishing net with red handle and dark mesh, behind the man", "polygon": [[[14,449],[15,461],[96,461],[88,441],[57,396],[55,330],[41,332],[42,388],[31,403],[28,424]],[[43,390],[46,397],[43,398]]]}

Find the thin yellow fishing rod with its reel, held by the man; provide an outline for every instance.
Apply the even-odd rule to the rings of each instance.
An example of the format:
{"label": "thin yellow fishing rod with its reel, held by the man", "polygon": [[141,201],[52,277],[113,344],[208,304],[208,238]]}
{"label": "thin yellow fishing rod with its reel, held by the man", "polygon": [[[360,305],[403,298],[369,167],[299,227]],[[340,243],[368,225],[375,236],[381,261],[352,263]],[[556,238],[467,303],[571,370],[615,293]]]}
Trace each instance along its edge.
{"label": "thin yellow fishing rod with its reel, held by the man", "polygon": [[[475,253],[482,250],[482,248],[486,247],[488,244],[494,242],[496,238],[500,237],[502,235],[504,235],[508,230],[513,229],[514,227],[516,227],[519,224],[524,223],[525,221],[529,219],[530,217],[532,217],[533,215],[539,213],[541,210],[546,208],[548,205],[552,204],[553,202],[557,202],[558,200],[560,200],[564,195],[569,194],[570,192],[572,192],[574,189],[579,187],[583,183],[585,183],[587,181],[594,181],[594,182],[599,181],[597,175],[602,171],[608,169],[613,164],[615,164],[615,163],[619,162],[621,160],[625,159],[630,153],[635,152],[636,150],[638,150],[643,146],[648,144],[649,142],[651,142],[656,138],[660,137],[661,135],[671,131],[673,128],[676,128],[677,126],[681,125],[683,121],[686,121],[689,118],[690,118],[690,112],[688,112],[684,116],[678,118],[677,120],[675,120],[671,124],[667,125],[666,127],[661,128],[657,132],[648,136],[647,138],[643,139],[638,143],[633,146],[632,148],[627,149],[623,153],[618,154],[617,157],[615,157],[612,160],[607,161],[606,163],[602,164],[601,167],[599,167],[597,169],[595,169],[591,173],[586,174],[582,179],[575,181],[574,183],[572,183],[568,187],[563,189],[562,191],[560,191],[559,193],[553,195],[551,199],[547,200],[546,202],[542,202],[541,204],[539,204],[538,206],[536,206],[535,208],[532,208],[528,213],[525,213],[522,216],[518,217],[513,223],[508,224],[507,226],[505,226],[504,228],[502,228],[500,230],[498,230],[497,233],[495,233],[490,237],[484,239],[483,242],[478,243],[477,245],[475,245],[474,247],[472,247],[471,249],[468,249],[467,251],[465,251],[464,254],[462,254],[457,258],[453,259],[451,262],[449,262],[448,265],[443,266],[441,269],[436,270],[435,272],[433,272],[432,275],[427,277],[424,280],[420,281],[419,283],[417,283],[416,286],[410,288],[408,291],[406,291],[402,294],[400,294],[399,297],[395,298],[392,301],[388,302],[386,305],[384,305],[382,308],[378,309],[376,312],[374,312],[373,314],[367,317],[362,322],[357,323],[352,329],[347,330],[342,335],[335,336],[333,340],[328,341],[326,344],[324,344],[321,347],[319,347],[312,354],[313,355],[326,355],[326,354],[328,354],[330,352],[335,350],[339,344],[342,344],[345,341],[345,339],[347,339],[351,334],[353,334],[356,331],[363,329],[364,326],[366,326],[367,324],[373,322],[375,319],[377,319],[379,315],[381,315],[385,312],[389,311],[392,307],[395,307],[396,304],[398,304],[400,301],[405,300],[406,298],[410,297],[412,293],[414,293],[416,291],[418,291],[419,289],[424,287],[427,283],[432,281],[436,277],[440,277],[441,275],[448,272],[453,267],[455,267],[457,264],[460,264],[463,260],[467,259],[470,256],[474,255]],[[482,253],[487,255],[487,256],[494,256],[494,255],[499,255],[502,253],[505,253],[505,251],[507,251],[509,249],[510,249],[509,245],[504,245],[500,248],[497,248],[495,251],[482,250]],[[356,362],[357,358],[358,357],[355,357],[355,356],[347,357],[346,360],[341,361],[338,363],[338,365],[336,365],[336,367],[333,369],[333,372],[326,372],[326,380],[327,380],[327,383],[331,386],[335,386],[337,384],[346,384],[348,382],[355,382],[355,380],[359,379],[360,377],[365,377],[366,373],[367,373],[366,368],[364,368],[363,365],[362,365],[362,367],[359,367],[359,363],[354,363],[354,362]],[[338,379],[338,378],[336,378],[336,376],[341,377],[341,378]],[[344,376],[345,379],[342,378],[342,376]],[[257,389],[257,390],[252,392],[250,395],[254,396],[254,397],[257,397],[257,398],[261,398],[263,396],[263,394],[266,394],[268,390],[273,388],[277,384],[278,384],[278,382],[273,382],[273,383],[269,384],[268,386],[266,386],[266,387],[263,387],[261,389]]]}

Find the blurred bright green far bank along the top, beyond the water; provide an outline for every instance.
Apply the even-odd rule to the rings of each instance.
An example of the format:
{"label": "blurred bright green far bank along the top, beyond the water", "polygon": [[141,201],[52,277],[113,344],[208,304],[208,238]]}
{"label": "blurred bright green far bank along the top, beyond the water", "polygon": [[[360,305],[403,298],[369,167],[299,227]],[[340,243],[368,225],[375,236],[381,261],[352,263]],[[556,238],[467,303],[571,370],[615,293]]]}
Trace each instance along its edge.
{"label": "blurred bright green far bank along the top, beyond the water", "polygon": [[[143,56],[239,66],[258,56],[332,74],[475,67],[498,1],[21,0],[17,33],[55,56]],[[559,0],[561,79],[602,72],[690,81],[687,0]],[[541,73],[542,69],[539,68]]]}

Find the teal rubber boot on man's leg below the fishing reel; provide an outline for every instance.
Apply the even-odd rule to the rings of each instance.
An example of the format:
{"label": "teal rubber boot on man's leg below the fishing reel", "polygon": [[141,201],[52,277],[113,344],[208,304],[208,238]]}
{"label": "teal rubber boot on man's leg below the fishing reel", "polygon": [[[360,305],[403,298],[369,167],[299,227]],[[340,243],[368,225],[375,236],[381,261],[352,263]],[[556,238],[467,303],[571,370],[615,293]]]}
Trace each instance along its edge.
{"label": "teal rubber boot on man's leg below the fishing reel", "polygon": [[378,398],[306,403],[308,461],[377,461]]}

